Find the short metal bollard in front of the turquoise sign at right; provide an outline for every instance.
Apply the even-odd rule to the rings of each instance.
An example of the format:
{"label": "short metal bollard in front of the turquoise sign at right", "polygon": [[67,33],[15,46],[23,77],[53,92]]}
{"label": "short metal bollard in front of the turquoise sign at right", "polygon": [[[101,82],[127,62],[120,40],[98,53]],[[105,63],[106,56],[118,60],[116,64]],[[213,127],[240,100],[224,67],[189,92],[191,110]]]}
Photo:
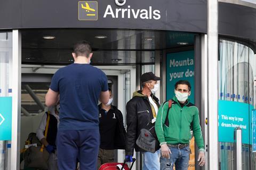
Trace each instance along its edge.
{"label": "short metal bollard in front of the turquoise sign at right", "polygon": [[235,141],[235,169],[242,170],[242,129],[236,127],[234,131]]}

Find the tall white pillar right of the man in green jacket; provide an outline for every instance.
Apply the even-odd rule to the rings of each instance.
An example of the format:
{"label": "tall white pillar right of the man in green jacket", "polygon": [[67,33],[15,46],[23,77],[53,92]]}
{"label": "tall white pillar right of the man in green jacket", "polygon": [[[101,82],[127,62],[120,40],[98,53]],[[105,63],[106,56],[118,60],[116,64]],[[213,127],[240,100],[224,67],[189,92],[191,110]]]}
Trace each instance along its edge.
{"label": "tall white pillar right of the man in green jacket", "polygon": [[[207,1],[208,169],[219,169],[218,147],[218,0]],[[218,133],[217,133],[218,134]]]}

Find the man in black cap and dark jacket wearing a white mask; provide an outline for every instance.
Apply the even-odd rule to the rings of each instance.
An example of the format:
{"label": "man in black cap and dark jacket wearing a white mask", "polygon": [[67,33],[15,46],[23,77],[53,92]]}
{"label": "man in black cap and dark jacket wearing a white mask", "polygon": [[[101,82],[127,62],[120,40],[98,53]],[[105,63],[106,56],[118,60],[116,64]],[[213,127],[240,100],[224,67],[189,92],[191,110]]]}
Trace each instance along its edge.
{"label": "man in black cap and dark jacket wearing a white mask", "polygon": [[132,161],[133,149],[143,154],[143,170],[159,170],[159,150],[155,153],[146,152],[135,143],[142,128],[156,120],[159,100],[153,94],[158,89],[157,80],[153,72],[141,75],[142,90],[133,93],[133,98],[126,104],[126,159]]}

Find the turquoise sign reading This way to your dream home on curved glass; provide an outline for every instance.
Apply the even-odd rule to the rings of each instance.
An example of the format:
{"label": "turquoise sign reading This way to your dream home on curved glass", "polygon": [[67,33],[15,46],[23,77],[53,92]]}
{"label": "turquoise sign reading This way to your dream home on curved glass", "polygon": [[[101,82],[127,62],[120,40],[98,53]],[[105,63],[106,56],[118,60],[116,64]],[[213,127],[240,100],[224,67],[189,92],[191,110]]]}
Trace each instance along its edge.
{"label": "turquoise sign reading This way to your dream home on curved glass", "polygon": [[234,129],[242,129],[242,143],[249,144],[253,106],[248,103],[219,100],[219,142],[234,142]]}

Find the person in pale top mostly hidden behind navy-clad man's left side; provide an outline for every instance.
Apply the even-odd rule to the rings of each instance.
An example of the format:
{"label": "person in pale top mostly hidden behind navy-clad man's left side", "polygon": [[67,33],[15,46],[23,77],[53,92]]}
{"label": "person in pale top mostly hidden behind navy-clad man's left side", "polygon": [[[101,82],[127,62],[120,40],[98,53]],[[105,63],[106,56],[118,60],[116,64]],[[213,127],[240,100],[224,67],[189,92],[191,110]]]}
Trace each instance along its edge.
{"label": "person in pale top mostly hidden behind navy-clad man's left side", "polygon": [[[45,129],[47,117],[50,116],[49,119],[49,127],[47,130],[47,136],[45,137]],[[57,152],[56,150],[56,136],[59,125],[59,105],[52,106],[48,108],[48,111],[42,117],[41,123],[36,131],[36,136],[44,144],[45,149],[50,153],[49,161],[48,161],[48,169],[49,170],[58,170],[57,163]]]}

